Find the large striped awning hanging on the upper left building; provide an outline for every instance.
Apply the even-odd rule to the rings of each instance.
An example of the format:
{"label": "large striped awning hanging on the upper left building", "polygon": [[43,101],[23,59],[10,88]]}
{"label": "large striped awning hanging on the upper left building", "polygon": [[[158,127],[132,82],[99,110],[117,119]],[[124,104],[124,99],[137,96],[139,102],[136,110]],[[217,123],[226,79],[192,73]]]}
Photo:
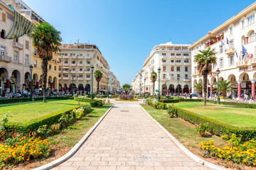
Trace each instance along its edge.
{"label": "large striped awning hanging on the upper left building", "polygon": [[14,11],[14,26],[10,32],[6,35],[5,39],[19,38],[24,34],[31,33],[35,25],[28,21],[27,18],[23,17],[18,12]]}

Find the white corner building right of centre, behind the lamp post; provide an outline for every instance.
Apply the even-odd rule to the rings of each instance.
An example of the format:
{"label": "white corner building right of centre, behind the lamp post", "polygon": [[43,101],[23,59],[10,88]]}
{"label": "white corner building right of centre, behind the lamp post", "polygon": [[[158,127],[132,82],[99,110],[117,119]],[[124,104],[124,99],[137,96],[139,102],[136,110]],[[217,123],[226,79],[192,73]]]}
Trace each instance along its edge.
{"label": "white corner building right of centre, behind the lamp post", "polygon": [[[161,69],[160,77],[158,69]],[[157,73],[155,87],[151,82],[151,72]],[[139,76],[141,74],[141,76]],[[159,82],[160,79],[160,82]],[[191,51],[188,45],[160,44],[154,46],[146,57],[143,69],[133,82],[135,93],[185,94],[191,92]],[[179,86],[179,87],[178,87]]]}

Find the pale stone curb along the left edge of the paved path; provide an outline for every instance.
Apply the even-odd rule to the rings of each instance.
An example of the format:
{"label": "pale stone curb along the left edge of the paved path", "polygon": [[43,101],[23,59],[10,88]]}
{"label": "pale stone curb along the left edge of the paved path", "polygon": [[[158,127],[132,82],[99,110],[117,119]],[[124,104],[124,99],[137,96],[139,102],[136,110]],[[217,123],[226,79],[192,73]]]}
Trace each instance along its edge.
{"label": "pale stone curb along the left edge of the paved path", "polygon": [[102,118],[100,118],[100,120],[98,120],[97,123],[95,123],[95,125],[93,125],[92,128],[90,128],[90,130],[82,137],[82,139],[72,149],[70,149],[70,151],[68,153],[66,153],[63,157],[60,157],[60,158],[56,159],[53,162],[50,162],[50,163],[45,164],[43,166],[39,166],[39,167],[37,167],[35,169],[32,169],[32,170],[48,170],[48,169],[52,169],[55,166],[58,166],[59,164],[62,164],[66,160],[70,159],[70,157],[72,157],[75,154],[75,152],[77,152],[78,149],[80,149],[80,147],[82,147],[82,145],[85,143],[87,138],[90,137],[92,132],[97,128],[97,126],[102,122],[102,120],[106,117],[107,113],[109,113],[110,110],[113,107],[114,107],[114,104],[107,110],[107,112],[104,115],[102,115]]}

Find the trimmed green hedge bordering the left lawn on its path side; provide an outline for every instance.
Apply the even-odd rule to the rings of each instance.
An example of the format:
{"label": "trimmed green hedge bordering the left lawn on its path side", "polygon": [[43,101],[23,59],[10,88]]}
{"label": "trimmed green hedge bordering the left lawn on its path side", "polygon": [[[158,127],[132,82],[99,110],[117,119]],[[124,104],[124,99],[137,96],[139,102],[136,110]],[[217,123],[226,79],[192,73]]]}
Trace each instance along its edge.
{"label": "trimmed green hedge bordering the left lawn on its path side", "polygon": [[70,114],[70,112],[73,111],[73,109],[77,109],[77,108],[80,108],[80,106],[75,106],[73,108],[70,108],[68,111],[63,110],[63,111],[51,113],[49,115],[44,115],[41,118],[35,118],[22,124],[7,123],[6,128],[18,134],[27,135],[28,133],[38,130],[40,126],[43,126],[43,125],[49,126],[49,125],[58,123],[58,120],[60,119],[61,115],[63,115],[63,113]]}

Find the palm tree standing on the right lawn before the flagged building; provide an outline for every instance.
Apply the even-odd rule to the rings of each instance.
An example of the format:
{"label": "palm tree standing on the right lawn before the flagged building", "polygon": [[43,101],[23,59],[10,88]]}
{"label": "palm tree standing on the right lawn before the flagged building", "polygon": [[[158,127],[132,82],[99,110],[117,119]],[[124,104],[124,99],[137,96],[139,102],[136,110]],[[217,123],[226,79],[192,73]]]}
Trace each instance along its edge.
{"label": "palm tree standing on the right lawn before the flagged building", "polygon": [[204,103],[206,105],[207,76],[208,74],[212,74],[212,64],[216,64],[217,58],[215,55],[217,52],[210,50],[210,47],[208,47],[207,50],[199,50],[199,52],[201,53],[194,56],[194,62],[197,62],[196,69],[203,75],[203,94]]}

